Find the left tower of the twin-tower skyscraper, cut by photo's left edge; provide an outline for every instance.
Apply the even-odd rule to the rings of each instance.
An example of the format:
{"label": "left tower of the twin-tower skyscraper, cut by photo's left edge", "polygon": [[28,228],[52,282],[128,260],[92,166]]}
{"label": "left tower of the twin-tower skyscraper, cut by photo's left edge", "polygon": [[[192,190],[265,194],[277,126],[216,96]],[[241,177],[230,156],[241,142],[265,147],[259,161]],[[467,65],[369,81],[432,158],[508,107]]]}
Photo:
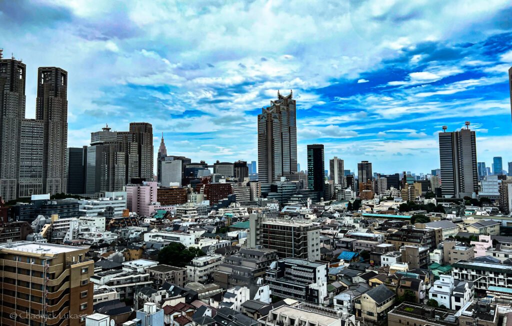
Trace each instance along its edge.
{"label": "left tower of the twin-tower skyscraper, cut by photo's left edge", "polygon": [[0,197],[17,198],[19,138],[25,118],[25,63],[0,51]]}

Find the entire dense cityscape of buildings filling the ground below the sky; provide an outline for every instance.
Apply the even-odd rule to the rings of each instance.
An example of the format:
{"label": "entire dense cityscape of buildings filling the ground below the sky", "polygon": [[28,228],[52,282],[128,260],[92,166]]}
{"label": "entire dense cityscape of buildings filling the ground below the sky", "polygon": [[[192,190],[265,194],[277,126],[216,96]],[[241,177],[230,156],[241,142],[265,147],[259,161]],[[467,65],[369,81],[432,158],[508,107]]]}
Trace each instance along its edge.
{"label": "entire dense cityscape of buildings filling the ground below the sky", "polygon": [[431,173],[350,171],[323,144],[301,171],[296,102],[278,92],[258,162],[209,164],[168,155],[163,134],[154,158],[146,122],[66,148],[60,68],[38,69],[36,119],[24,63],[0,59],[0,85],[0,324],[512,320],[512,178],[477,162],[469,122],[443,127]]}

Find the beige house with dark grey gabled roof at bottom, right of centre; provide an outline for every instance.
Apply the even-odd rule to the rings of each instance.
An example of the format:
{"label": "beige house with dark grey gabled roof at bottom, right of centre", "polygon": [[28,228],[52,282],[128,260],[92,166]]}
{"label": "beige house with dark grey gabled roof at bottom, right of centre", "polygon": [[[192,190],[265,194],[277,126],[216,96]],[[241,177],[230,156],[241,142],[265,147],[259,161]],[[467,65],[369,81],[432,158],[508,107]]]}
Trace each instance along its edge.
{"label": "beige house with dark grey gabled roof at bottom, right of centre", "polygon": [[395,303],[396,294],[385,285],[379,285],[365,292],[355,302],[356,316],[364,316],[365,322],[385,324],[387,314]]}

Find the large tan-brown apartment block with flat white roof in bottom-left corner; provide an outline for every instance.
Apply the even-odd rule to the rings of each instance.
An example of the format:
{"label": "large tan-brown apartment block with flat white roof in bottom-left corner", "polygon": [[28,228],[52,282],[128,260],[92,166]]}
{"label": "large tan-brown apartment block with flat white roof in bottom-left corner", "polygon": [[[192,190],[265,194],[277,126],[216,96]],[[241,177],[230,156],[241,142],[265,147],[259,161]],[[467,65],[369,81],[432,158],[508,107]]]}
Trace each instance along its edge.
{"label": "large tan-brown apartment block with flat white roof in bottom-left corner", "polygon": [[89,278],[94,273],[94,262],[86,258],[88,251],[28,241],[0,245],[0,305],[4,312],[0,323],[82,325],[84,316],[93,312]]}

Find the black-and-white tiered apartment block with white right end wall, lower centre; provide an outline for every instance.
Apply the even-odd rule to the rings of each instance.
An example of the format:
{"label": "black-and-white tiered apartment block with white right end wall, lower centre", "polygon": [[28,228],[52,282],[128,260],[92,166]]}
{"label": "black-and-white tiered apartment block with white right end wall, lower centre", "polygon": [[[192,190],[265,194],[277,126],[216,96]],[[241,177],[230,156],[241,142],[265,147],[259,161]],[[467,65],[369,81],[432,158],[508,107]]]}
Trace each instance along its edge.
{"label": "black-and-white tiered apartment block with white right end wall, lower centre", "polygon": [[327,265],[284,258],[270,265],[266,281],[272,295],[323,304],[327,296]]}

